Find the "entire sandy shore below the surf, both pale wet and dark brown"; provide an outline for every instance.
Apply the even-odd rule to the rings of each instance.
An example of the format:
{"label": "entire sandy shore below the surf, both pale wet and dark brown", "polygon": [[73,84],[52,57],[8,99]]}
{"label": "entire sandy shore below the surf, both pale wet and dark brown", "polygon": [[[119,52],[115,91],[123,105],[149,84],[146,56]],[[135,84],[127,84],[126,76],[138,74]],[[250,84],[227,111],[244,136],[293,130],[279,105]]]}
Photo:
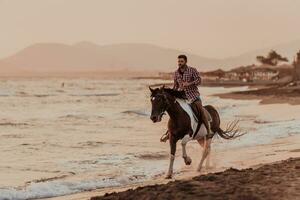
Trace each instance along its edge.
{"label": "entire sandy shore below the surf, both pale wet and dark brown", "polygon": [[[289,181],[293,185],[299,185],[300,183],[300,137],[292,136],[288,138],[281,138],[274,140],[271,144],[257,145],[251,148],[239,148],[232,150],[227,150],[223,152],[214,152],[213,160],[215,162],[214,167],[211,169],[206,169],[199,176],[199,173],[195,172],[196,166],[186,167],[184,174],[177,174],[176,177],[169,181],[163,179],[163,177],[146,181],[140,184],[133,184],[128,187],[116,187],[109,189],[99,189],[94,191],[87,191],[83,193],[78,193],[74,195],[68,195],[63,197],[50,198],[49,200],[81,200],[81,199],[188,199],[197,198],[201,196],[203,199],[240,199],[241,195],[245,195],[248,192],[246,199],[267,199],[269,191],[282,191],[282,185],[278,185],[278,182],[285,182],[285,177],[288,175],[292,177]],[[196,152],[193,152],[195,156]],[[292,162],[287,162],[283,160],[288,160],[290,158]],[[180,158],[178,158],[180,159]],[[283,162],[281,162],[283,161]],[[272,165],[273,163],[276,163]],[[278,163],[283,163],[280,166]],[[266,166],[265,166],[266,165]],[[234,169],[232,169],[234,168]],[[252,168],[254,170],[247,170]],[[235,170],[236,169],[236,170]],[[243,170],[246,169],[246,170]],[[256,173],[256,169],[258,169]],[[241,171],[238,171],[241,170]],[[220,173],[225,171],[225,173]],[[216,173],[216,174],[211,174]],[[285,174],[284,176],[282,174]],[[245,174],[247,178],[245,179]],[[267,177],[274,178],[272,182],[275,182],[276,187],[270,184],[270,180],[266,182],[259,183],[260,186],[267,185],[262,189],[261,194],[256,194],[254,191],[257,189],[252,185],[256,185],[255,182],[264,175]],[[220,176],[215,183],[215,179],[210,180],[211,177]],[[224,178],[224,177],[225,178]],[[279,177],[278,177],[279,176]],[[221,178],[222,177],[222,178]],[[234,179],[231,179],[233,177]],[[256,179],[251,177],[257,177]],[[224,180],[223,180],[224,179]],[[251,182],[253,181],[253,182]],[[221,185],[215,187],[215,184],[221,182]],[[224,184],[228,187],[224,187]],[[244,185],[240,185],[244,183]],[[245,184],[248,183],[248,184]],[[165,185],[166,184],[166,185]],[[186,188],[183,185],[193,186],[191,189]],[[257,186],[257,185],[256,185]],[[286,187],[286,186],[285,186]],[[138,188],[138,189],[137,189]],[[279,189],[281,188],[281,189]],[[134,190],[132,190],[134,189]],[[136,190],[137,189],[137,190]],[[292,187],[291,193],[286,198],[278,199],[295,199],[297,195],[299,196],[299,188]],[[125,192],[123,192],[125,191]],[[229,192],[231,191],[231,192]],[[233,192],[235,191],[235,192]],[[117,192],[117,193],[116,193]],[[174,196],[178,194],[179,196]],[[105,195],[105,196],[104,196]],[[181,196],[184,195],[184,196]],[[191,195],[191,196],[186,196]],[[193,196],[194,195],[194,196]],[[224,196],[226,195],[226,196]],[[282,195],[282,194],[281,194]],[[104,197],[103,197],[104,196]]]}

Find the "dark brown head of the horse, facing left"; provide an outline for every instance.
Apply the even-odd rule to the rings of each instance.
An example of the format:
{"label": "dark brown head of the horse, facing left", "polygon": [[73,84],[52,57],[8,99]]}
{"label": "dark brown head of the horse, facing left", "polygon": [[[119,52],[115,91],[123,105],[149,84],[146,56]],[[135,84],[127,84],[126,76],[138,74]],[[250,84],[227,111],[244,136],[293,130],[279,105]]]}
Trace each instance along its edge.
{"label": "dark brown head of the horse, facing left", "polygon": [[151,104],[152,104],[152,111],[150,119],[155,122],[160,122],[162,116],[165,114],[169,106],[169,101],[167,98],[167,94],[164,91],[164,86],[161,88],[152,89],[149,87],[151,91]]}

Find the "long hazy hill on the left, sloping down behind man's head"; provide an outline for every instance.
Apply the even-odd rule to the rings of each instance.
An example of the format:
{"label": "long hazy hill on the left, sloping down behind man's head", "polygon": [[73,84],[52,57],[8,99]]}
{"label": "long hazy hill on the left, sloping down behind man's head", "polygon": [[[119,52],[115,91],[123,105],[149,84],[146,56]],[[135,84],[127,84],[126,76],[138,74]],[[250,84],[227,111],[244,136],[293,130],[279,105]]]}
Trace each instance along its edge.
{"label": "long hazy hill on the left, sloping down behind man's head", "polygon": [[[41,43],[29,46],[3,59],[5,63],[30,71],[101,71],[156,70],[176,67],[181,51],[149,44],[116,44],[100,46],[89,42],[74,45]],[[188,54],[191,64],[208,70],[217,59]]]}

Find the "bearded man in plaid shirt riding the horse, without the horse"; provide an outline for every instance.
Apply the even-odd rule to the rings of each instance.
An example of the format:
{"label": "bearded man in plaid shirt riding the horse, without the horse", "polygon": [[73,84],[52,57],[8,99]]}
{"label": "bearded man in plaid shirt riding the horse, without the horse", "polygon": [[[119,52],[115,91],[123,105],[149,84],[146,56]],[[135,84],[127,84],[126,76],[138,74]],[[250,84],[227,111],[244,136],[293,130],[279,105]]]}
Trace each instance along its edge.
{"label": "bearded man in plaid shirt riding the horse, without the horse", "polygon": [[[210,134],[210,123],[200,98],[198,86],[201,84],[201,77],[197,69],[187,65],[186,55],[178,56],[178,69],[174,73],[174,90],[184,91],[186,98],[191,103],[192,109]],[[166,135],[161,141],[165,142],[169,136]]]}

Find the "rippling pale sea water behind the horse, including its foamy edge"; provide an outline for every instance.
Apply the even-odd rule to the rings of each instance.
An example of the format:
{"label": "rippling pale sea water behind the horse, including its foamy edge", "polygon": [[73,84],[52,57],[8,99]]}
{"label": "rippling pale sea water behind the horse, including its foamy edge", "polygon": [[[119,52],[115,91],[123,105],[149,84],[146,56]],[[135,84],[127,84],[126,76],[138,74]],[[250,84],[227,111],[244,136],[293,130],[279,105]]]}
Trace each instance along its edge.
{"label": "rippling pale sea water behind the horse, including its foamy edge", "polygon": [[[168,116],[156,124],[149,119],[148,89],[149,84],[161,82],[167,81],[1,80],[0,199],[61,196],[163,175],[169,146],[159,138]],[[299,106],[286,105],[282,117],[276,106],[259,105],[258,100],[212,96],[246,89],[200,88],[204,104],[219,111],[223,128],[238,119],[240,129],[247,131],[238,140],[214,140],[216,151],[298,133],[300,116],[292,113],[300,111]],[[262,107],[269,112],[260,112]],[[176,162],[176,170],[182,165]]]}

